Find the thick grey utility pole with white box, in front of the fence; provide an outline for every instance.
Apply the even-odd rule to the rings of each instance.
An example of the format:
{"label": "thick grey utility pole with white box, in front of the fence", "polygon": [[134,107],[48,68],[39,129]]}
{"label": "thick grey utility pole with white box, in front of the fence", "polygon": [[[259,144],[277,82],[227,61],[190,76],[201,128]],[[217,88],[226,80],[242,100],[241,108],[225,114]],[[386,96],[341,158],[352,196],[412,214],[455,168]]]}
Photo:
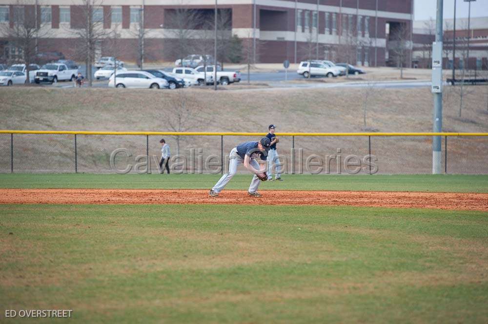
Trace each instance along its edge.
{"label": "thick grey utility pole with white box, in front of the fence", "polygon": [[[432,87],[434,95],[434,133],[442,132],[442,10],[443,0],[437,0],[437,15],[435,24],[435,42],[432,44]],[[442,152],[441,136],[432,137],[432,174],[440,174]]]}

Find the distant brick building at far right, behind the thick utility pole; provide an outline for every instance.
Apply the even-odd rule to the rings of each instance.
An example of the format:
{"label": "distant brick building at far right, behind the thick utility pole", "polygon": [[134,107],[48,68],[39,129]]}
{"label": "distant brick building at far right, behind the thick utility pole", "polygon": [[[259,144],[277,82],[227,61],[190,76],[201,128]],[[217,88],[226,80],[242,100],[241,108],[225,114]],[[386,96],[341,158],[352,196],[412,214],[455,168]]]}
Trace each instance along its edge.
{"label": "distant brick building at far right, behind the thick utility pole", "polygon": [[[455,67],[456,69],[488,69],[488,17],[456,19]],[[444,20],[443,67],[452,69],[454,20]],[[469,57],[468,57],[469,36]],[[435,40],[434,20],[415,20],[413,22],[413,65],[430,68],[432,42]]]}

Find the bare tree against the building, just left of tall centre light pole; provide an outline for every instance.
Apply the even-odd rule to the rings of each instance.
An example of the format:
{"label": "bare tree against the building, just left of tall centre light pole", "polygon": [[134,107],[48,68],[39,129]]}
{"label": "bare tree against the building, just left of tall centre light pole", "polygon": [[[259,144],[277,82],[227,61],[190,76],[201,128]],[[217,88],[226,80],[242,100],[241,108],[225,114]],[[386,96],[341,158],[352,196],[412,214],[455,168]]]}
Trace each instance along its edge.
{"label": "bare tree against the building, just left of tall centre light pole", "polygon": [[183,58],[195,50],[197,29],[202,28],[203,17],[200,11],[190,9],[183,3],[176,9],[164,10],[164,12],[164,29],[175,42],[171,47],[173,55],[183,62]]}

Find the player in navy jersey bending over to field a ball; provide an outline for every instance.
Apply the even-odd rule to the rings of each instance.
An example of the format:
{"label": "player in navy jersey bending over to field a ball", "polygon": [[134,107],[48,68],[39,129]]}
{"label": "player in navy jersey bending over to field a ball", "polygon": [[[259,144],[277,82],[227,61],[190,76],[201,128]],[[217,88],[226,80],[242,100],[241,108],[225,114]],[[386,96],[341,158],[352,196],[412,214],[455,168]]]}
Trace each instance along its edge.
{"label": "player in navy jersey bending over to field a ball", "polygon": [[208,195],[210,197],[219,196],[225,185],[232,179],[237,172],[237,167],[240,164],[244,164],[244,167],[250,172],[254,173],[251,180],[251,185],[247,190],[247,193],[251,197],[261,197],[262,195],[257,191],[259,183],[267,180],[266,166],[260,167],[256,159],[259,157],[261,160],[266,161],[267,152],[271,141],[267,137],[261,138],[258,142],[244,142],[236,146],[230,151],[229,154],[229,172],[225,173],[215,186],[210,190]]}

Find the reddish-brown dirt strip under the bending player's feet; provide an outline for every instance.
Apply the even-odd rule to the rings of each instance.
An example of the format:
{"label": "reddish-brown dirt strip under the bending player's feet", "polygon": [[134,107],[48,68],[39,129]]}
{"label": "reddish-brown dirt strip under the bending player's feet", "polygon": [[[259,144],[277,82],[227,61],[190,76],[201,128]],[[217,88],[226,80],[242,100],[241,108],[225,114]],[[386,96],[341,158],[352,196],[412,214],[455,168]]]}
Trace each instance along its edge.
{"label": "reddish-brown dirt strip under the bending player's feet", "polygon": [[488,193],[389,191],[246,191],[154,189],[0,189],[0,204],[254,204],[431,208],[488,211]]}

